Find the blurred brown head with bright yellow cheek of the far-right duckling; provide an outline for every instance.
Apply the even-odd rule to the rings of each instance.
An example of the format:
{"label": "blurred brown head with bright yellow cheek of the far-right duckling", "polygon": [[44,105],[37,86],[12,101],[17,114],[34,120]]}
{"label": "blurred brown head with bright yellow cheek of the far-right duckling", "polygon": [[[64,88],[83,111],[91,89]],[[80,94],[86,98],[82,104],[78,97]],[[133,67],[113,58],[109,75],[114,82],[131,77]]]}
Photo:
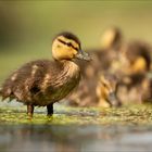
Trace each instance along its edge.
{"label": "blurred brown head with bright yellow cheek of the far-right duckling", "polygon": [[147,73],[151,67],[151,47],[143,41],[130,41],[125,47],[128,65],[124,73]]}

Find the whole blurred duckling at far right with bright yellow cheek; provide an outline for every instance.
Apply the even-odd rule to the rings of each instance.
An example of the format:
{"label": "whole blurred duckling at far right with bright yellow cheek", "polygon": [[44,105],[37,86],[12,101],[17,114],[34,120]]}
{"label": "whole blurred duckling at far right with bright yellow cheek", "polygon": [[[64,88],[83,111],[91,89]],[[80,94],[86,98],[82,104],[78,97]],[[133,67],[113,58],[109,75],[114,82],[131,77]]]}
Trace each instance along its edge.
{"label": "whole blurred duckling at far right with bright yellow cheek", "polygon": [[117,96],[123,103],[142,103],[147,74],[151,67],[151,47],[142,41],[131,41],[125,46],[126,64],[121,68],[122,80]]}

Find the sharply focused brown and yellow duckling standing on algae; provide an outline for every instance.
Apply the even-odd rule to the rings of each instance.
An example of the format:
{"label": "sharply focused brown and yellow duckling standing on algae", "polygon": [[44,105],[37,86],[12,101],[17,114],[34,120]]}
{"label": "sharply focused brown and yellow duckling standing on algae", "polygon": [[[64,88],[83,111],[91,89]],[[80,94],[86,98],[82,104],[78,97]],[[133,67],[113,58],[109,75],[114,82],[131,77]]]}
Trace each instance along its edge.
{"label": "sharply focused brown and yellow duckling standing on algae", "polygon": [[74,59],[89,61],[79,39],[72,33],[59,34],[52,42],[54,61],[36,60],[13,72],[2,85],[3,99],[16,99],[27,105],[31,117],[35,106],[47,106],[53,114],[53,103],[65,98],[79,83],[80,69]]}

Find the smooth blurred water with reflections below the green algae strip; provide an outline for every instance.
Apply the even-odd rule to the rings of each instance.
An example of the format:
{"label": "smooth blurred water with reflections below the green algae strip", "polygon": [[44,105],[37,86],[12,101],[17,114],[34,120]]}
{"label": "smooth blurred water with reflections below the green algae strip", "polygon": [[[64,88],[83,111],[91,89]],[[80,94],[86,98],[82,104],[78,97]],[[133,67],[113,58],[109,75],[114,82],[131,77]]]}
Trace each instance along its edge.
{"label": "smooth blurred water with reflections below the green algae strip", "polygon": [[150,151],[151,127],[0,126],[2,152]]}

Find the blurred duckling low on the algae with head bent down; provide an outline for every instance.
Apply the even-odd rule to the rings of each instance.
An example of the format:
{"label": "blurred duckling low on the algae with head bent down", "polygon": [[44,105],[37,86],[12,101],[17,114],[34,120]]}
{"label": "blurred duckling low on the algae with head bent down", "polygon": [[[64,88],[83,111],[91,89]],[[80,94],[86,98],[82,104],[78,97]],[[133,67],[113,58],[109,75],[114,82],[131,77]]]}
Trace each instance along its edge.
{"label": "blurred duckling low on the algae with head bent down", "polygon": [[102,74],[97,81],[85,79],[79,86],[81,91],[72,94],[68,103],[73,106],[119,106],[116,85],[116,77],[110,74]]}

